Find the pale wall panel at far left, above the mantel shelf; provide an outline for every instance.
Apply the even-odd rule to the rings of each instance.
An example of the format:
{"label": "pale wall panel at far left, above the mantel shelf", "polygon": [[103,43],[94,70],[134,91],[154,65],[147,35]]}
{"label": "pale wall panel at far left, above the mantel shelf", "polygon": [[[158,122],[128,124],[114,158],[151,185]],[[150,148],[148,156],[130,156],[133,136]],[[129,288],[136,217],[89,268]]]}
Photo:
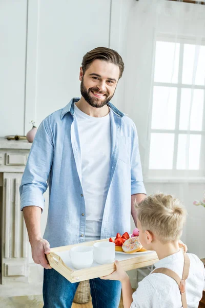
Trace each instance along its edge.
{"label": "pale wall panel at far left, above the mantel shelf", "polygon": [[24,134],[27,1],[0,8],[0,136]]}

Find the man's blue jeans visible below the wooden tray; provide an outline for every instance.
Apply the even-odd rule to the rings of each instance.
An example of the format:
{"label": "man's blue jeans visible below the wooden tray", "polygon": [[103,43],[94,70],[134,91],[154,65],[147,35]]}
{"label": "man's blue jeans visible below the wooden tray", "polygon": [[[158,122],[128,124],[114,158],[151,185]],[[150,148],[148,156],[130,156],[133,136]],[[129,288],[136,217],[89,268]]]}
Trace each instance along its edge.
{"label": "man's blue jeans visible below the wooden tray", "polygon": [[[55,269],[44,269],[44,307],[71,308],[79,282],[71,283]],[[93,308],[118,308],[121,283],[113,280],[90,280]]]}

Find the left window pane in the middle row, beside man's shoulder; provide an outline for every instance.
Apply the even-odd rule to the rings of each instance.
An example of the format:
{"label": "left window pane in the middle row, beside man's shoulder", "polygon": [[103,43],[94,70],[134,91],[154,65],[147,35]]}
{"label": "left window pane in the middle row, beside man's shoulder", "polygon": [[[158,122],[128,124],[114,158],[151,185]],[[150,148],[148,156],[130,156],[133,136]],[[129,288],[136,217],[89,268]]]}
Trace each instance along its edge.
{"label": "left window pane in the middle row, beside man's shoulder", "polygon": [[154,87],[152,129],[175,129],[177,88]]}

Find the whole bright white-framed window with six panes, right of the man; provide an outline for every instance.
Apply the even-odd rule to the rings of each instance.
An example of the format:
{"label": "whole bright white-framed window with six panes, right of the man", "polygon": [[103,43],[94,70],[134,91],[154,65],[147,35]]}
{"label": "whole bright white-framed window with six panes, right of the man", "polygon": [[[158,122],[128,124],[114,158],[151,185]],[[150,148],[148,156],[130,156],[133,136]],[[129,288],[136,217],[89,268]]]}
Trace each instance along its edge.
{"label": "whole bright white-framed window with six panes, right of the man", "polygon": [[204,176],[205,44],[158,38],[149,176]]}

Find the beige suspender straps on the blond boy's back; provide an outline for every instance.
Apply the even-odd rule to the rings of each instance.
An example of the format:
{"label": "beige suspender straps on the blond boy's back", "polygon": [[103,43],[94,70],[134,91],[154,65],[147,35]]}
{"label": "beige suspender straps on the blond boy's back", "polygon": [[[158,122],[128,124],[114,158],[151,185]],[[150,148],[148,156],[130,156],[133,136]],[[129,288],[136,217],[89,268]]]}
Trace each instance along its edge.
{"label": "beige suspender straps on the blond boy's back", "polygon": [[165,268],[165,267],[156,268],[151,274],[161,273],[161,274],[165,274],[165,275],[173,278],[179,286],[179,290],[180,290],[180,293],[181,293],[182,307],[187,308],[188,306],[187,306],[187,298],[186,298],[186,283],[185,283],[185,280],[189,276],[190,259],[189,259],[188,255],[186,255],[186,254],[184,254],[184,258],[185,258],[185,263],[183,265],[182,279],[180,279],[180,277],[174,271],[172,271],[169,268]]}

